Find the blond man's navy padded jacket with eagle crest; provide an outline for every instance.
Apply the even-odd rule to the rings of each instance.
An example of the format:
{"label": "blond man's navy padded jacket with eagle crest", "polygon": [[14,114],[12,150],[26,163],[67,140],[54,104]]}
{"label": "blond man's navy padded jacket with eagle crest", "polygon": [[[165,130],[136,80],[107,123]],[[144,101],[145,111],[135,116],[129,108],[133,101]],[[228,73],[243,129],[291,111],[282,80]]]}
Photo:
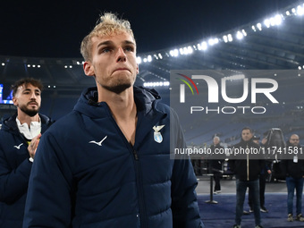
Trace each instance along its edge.
{"label": "blond man's navy padded jacket with eagle crest", "polygon": [[23,227],[203,227],[190,159],[170,158],[170,130],[173,147],[185,147],[177,116],[159,98],[134,87],[131,146],[97,89],[84,91],[40,140]]}

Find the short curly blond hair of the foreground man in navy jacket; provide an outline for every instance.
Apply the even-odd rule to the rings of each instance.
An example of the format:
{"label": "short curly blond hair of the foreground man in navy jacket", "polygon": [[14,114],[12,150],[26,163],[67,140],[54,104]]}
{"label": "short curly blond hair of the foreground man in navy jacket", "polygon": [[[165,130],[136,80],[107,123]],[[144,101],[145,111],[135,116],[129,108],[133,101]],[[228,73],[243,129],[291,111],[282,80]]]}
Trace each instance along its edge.
{"label": "short curly blond hair of the foreground man in navy jacket", "polygon": [[123,32],[130,34],[135,41],[129,21],[118,19],[114,13],[104,13],[104,15],[101,15],[95,28],[81,42],[80,53],[84,60],[91,60],[92,38],[113,36]]}

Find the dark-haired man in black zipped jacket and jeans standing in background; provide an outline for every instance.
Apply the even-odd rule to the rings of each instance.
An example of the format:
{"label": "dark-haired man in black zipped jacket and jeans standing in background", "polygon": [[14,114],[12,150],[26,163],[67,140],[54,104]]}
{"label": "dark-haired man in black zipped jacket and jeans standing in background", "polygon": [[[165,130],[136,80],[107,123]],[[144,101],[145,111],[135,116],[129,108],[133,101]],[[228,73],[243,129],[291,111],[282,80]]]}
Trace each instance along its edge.
{"label": "dark-haired man in black zipped jacket and jeans standing in background", "polygon": [[253,132],[249,127],[241,131],[241,142],[234,145],[235,150],[239,149],[240,153],[235,155],[229,164],[236,178],[236,209],[235,224],[233,228],[241,228],[241,215],[247,188],[252,192],[253,212],[255,215],[256,228],[261,228],[260,204],[259,204],[259,173],[263,167],[264,161],[253,156],[253,149],[259,146],[252,140]]}

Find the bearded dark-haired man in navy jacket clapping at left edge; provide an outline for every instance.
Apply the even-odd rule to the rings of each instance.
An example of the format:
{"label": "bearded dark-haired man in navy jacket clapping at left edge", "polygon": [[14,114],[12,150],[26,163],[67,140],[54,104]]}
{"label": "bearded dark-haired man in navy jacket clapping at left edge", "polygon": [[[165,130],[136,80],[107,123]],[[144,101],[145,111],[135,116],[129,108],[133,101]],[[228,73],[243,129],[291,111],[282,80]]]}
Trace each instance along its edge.
{"label": "bearded dark-haired man in navy jacket clapping at left edge", "polygon": [[41,133],[52,123],[38,114],[42,88],[34,79],[21,79],[12,86],[17,113],[4,120],[0,131],[1,228],[22,226],[31,166]]}

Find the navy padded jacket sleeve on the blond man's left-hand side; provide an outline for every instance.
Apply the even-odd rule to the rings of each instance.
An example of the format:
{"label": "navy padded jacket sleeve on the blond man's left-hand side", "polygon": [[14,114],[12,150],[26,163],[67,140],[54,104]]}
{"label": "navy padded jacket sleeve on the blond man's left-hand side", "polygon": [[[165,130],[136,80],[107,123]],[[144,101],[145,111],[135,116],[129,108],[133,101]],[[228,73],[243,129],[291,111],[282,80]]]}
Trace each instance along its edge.
{"label": "navy padded jacket sleeve on the blond man's left-hand side", "polygon": [[[64,173],[64,174],[63,174]],[[39,142],[30,173],[23,228],[66,228],[72,218],[72,173],[63,151],[47,132]]]}

